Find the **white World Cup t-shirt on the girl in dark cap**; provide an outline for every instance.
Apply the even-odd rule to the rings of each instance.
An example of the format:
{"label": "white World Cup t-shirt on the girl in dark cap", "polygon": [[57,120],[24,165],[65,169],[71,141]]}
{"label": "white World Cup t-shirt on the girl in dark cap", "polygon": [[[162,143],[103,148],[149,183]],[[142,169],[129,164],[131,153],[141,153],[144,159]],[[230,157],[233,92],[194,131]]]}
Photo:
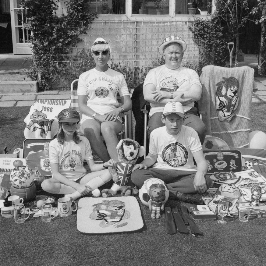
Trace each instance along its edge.
{"label": "white World Cup t-shirt on the girl in dark cap", "polygon": [[80,139],[82,141],[78,144],[74,141],[60,144],[57,139],[49,143],[50,164],[58,163],[59,173],[72,181],[87,173],[83,166],[84,159],[93,159],[89,140],[83,136]]}

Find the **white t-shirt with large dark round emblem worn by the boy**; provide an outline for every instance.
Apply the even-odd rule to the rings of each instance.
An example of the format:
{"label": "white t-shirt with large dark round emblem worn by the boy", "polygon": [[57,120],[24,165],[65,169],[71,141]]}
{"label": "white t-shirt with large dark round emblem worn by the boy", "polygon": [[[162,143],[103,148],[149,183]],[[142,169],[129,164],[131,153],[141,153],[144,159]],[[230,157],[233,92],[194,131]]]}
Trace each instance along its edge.
{"label": "white t-shirt with large dark round emblem worn by the boy", "polygon": [[152,166],[160,169],[195,170],[193,152],[202,150],[197,132],[182,125],[177,135],[170,135],[166,126],[151,132],[149,152],[157,154],[157,162]]}

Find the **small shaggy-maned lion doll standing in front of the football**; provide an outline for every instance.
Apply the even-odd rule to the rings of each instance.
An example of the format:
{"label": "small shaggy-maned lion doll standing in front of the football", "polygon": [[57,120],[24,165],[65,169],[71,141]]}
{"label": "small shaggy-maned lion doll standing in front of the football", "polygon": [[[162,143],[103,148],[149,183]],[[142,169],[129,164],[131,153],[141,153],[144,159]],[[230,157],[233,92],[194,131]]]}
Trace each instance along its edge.
{"label": "small shaggy-maned lion doll standing in front of the football", "polygon": [[161,210],[164,210],[165,204],[162,203],[165,200],[165,186],[163,184],[152,184],[149,188],[148,194],[150,200],[148,201],[151,218],[161,218]]}

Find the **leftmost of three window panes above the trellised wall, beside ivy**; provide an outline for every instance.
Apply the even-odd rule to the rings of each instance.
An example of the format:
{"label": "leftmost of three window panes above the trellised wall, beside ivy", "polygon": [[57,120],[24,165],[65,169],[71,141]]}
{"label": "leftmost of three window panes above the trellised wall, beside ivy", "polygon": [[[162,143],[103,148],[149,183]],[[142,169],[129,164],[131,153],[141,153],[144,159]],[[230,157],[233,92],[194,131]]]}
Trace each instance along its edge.
{"label": "leftmost of three window panes above the trellised wall, beside ivy", "polygon": [[87,0],[90,13],[97,14],[126,14],[126,0]]}

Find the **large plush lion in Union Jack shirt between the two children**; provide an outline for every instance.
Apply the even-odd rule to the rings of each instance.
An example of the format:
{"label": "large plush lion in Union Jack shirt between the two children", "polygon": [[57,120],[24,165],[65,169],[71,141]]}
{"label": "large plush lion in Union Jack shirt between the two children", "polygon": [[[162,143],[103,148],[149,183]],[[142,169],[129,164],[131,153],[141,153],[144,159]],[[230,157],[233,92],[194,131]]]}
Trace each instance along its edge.
{"label": "large plush lion in Union Jack shirt between the two children", "polygon": [[122,139],[116,146],[118,160],[116,169],[108,167],[114,184],[111,189],[102,190],[102,196],[113,197],[118,191],[122,191],[123,196],[137,195],[139,190],[131,182],[130,176],[139,156],[144,155],[144,147],[132,139]]}

